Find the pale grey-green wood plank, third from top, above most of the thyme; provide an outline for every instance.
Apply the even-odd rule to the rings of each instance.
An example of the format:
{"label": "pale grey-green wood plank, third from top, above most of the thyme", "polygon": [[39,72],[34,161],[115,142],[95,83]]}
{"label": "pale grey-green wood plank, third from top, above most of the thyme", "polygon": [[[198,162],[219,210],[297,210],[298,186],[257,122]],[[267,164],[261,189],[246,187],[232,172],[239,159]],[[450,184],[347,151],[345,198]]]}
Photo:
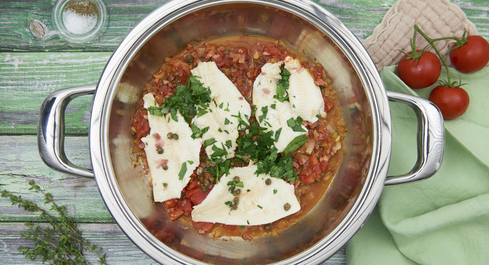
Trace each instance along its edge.
{"label": "pale grey-green wood plank, third from top, above most of the thyme", "polygon": [[[44,165],[37,149],[34,135],[0,136],[1,188],[15,192],[26,199],[42,203],[39,194],[28,191],[27,182],[35,180],[44,185],[54,198],[65,204],[77,221],[113,222],[95,181],[68,176]],[[74,164],[89,167],[88,137],[67,137],[65,150]],[[8,200],[0,199],[0,221],[27,221],[33,216],[17,207],[10,207]],[[1,244],[0,244],[1,245]]]}

